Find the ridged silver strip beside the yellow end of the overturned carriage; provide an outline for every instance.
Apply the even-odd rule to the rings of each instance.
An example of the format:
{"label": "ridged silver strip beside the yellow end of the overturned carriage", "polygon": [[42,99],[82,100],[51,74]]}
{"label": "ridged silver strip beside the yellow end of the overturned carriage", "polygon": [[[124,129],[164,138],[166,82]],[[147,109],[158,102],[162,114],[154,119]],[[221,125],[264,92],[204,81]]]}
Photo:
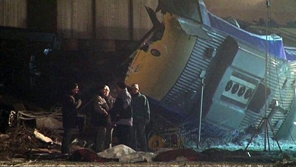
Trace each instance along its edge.
{"label": "ridged silver strip beside the yellow end of the overturned carriage", "polygon": [[[199,74],[202,70],[207,71],[211,63],[211,59],[204,56],[205,51],[207,48],[218,48],[226,38],[226,36],[215,31],[208,31],[206,29],[205,31],[212,40],[197,38],[182,74],[167,95],[161,100],[163,104],[184,109],[188,100],[188,93],[200,90],[201,79]],[[200,93],[198,92],[197,94]]]}

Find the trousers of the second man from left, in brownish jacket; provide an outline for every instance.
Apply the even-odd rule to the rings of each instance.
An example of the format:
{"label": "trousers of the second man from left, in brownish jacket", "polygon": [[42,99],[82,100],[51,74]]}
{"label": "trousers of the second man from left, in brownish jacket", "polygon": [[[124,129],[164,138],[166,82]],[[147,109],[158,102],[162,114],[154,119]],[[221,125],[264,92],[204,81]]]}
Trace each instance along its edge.
{"label": "trousers of the second man from left, in brownish jacket", "polygon": [[107,150],[111,146],[113,127],[110,126],[97,126],[95,137],[95,151],[97,153]]}

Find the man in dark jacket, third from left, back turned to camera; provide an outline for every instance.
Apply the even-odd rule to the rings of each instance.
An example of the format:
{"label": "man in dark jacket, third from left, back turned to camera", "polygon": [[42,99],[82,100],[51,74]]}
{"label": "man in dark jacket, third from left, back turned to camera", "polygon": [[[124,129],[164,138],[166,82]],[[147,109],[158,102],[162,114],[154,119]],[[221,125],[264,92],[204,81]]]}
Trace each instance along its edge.
{"label": "man in dark jacket, third from left, back turned to camera", "polygon": [[111,121],[116,125],[114,133],[118,144],[130,146],[133,113],[131,108],[131,95],[124,82],[118,82],[116,87],[117,98],[111,109]]}

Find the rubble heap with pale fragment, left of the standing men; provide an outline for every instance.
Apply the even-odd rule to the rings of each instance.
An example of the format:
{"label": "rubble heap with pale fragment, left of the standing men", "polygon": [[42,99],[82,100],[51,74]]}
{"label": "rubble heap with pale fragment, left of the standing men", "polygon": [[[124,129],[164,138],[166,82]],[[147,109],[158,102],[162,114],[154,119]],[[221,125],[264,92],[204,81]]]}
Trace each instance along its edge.
{"label": "rubble heap with pale fragment, left of the standing men", "polygon": [[[34,114],[33,114],[34,113]],[[62,135],[55,118],[59,113],[11,111],[9,128],[0,134],[0,159],[24,157],[45,148],[60,150]],[[55,122],[54,122],[55,121]]]}

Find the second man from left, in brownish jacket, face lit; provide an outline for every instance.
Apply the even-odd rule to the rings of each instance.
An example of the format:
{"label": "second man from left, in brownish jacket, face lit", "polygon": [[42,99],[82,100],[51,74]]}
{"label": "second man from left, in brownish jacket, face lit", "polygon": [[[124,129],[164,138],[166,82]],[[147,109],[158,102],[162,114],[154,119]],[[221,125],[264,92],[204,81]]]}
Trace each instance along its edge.
{"label": "second man from left, in brownish jacket, face lit", "polygon": [[96,127],[95,151],[97,153],[110,148],[113,130],[110,109],[114,103],[114,98],[109,95],[110,89],[107,85],[99,86],[98,90],[92,114],[92,122]]}

